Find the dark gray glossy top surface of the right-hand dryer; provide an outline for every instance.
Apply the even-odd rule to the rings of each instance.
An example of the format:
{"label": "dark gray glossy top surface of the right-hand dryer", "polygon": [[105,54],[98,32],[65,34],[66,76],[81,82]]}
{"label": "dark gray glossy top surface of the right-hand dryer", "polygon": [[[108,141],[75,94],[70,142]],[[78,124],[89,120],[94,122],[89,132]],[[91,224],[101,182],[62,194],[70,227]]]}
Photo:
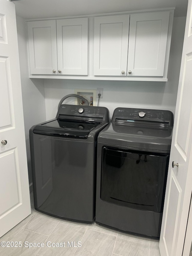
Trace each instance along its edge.
{"label": "dark gray glossy top surface of the right-hand dryer", "polygon": [[173,128],[142,127],[111,123],[98,136],[98,142],[137,149],[170,151]]}

